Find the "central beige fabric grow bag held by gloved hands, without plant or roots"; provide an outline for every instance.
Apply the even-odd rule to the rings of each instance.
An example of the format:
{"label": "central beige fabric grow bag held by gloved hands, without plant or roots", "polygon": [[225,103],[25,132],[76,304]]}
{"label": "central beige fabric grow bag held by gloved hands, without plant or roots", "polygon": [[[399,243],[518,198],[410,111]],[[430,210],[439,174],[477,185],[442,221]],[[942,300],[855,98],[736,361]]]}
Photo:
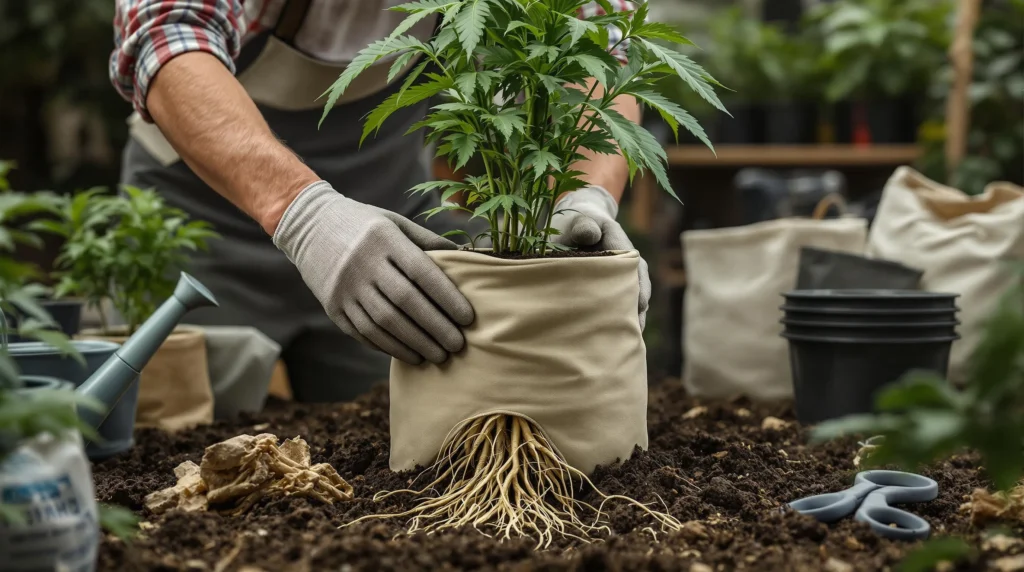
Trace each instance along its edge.
{"label": "central beige fabric grow bag held by gloved hands, without plant or roots", "polygon": [[514,412],[585,473],[647,448],[636,252],[503,260],[430,252],[476,312],[441,365],[391,362],[391,469],[429,466],[463,422]]}

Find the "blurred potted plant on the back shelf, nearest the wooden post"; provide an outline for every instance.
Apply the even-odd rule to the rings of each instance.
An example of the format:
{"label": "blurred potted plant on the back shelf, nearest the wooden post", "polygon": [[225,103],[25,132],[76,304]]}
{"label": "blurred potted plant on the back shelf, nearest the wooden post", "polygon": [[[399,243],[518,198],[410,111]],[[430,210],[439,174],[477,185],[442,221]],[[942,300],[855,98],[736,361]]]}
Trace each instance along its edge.
{"label": "blurred potted plant on the back shelf, nearest the wooden post", "polygon": [[852,102],[854,142],[912,142],[916,105],[949,43],[948,0],[821,4],[808,23],[823,42],[831,102]]}

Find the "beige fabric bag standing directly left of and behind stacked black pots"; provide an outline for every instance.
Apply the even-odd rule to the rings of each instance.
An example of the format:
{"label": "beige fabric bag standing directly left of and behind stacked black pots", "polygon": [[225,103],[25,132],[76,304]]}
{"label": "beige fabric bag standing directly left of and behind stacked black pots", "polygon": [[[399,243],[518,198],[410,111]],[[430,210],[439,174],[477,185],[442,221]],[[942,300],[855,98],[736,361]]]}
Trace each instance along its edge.
{"label": "beige fabric bag standing directly left of and behind stacked black pots", "polygon": [[[817,216],[824,211],[817,209]],[[686,390],[708,397],[793,397],[778,307],[782,293],[797,285],[800,249],[861,254],[866,239],[867,221],[852,217],[684,232]]]}

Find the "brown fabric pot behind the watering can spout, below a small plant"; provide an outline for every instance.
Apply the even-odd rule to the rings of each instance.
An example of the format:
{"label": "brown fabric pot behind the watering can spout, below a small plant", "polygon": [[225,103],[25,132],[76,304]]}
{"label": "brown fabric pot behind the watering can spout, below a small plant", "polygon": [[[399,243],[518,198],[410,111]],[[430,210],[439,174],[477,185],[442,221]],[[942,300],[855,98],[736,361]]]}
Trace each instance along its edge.
{"label": "brown fabric pot behind the watering can spout, below a small plant", "polygon": [[[125,336],[86,329],[79,338],[124,343]],[[179,325],[142,369],[135,427],[177,431],[213,422],[213,392],[203,329]]]}

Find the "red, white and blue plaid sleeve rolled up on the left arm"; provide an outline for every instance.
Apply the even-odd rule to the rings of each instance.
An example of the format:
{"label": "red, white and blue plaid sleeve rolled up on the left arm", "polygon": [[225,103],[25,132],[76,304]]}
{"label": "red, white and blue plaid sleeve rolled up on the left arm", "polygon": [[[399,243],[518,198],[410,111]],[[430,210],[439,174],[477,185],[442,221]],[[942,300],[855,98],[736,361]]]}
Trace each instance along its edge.
{"label": "red, white and blue plaid sleeve rolled up on the left arm", "polygon": [[190,51],[213,54],[234,73],[243,0],[117,0],[110,76],[145,121],[150,83],[160,68]]}

